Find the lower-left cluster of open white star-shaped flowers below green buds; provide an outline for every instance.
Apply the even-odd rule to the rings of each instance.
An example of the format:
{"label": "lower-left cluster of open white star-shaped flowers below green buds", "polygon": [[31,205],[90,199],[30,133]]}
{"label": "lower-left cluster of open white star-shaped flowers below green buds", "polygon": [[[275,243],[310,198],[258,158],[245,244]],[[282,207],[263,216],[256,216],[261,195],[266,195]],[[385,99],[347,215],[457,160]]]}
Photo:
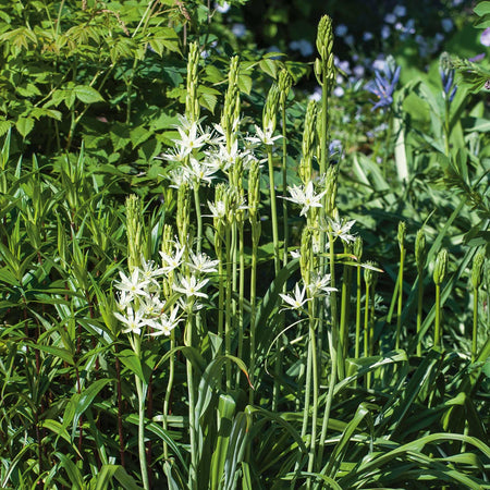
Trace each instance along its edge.
{"label": "lower-left cluster of open white star-shaped flowers below green buds", "polygon": [[[188,252],[184,260],[185,246],[175,244],[172,254],[160,252],[162,266],[142,259],[143,266],[134,268],[130,275],[120,272],[118,290],[118,309],[114,317],[123,326],[122,333],[136,335],[170,335],[184,319],[184,315],[203,307],[196,298],[207,298],[204,292],[209,279],[203,275],[216,272],[218,260],[211,260],[206,254]],[[173,274],[172,293],[175,298],[164,298],[162,282]]]}

